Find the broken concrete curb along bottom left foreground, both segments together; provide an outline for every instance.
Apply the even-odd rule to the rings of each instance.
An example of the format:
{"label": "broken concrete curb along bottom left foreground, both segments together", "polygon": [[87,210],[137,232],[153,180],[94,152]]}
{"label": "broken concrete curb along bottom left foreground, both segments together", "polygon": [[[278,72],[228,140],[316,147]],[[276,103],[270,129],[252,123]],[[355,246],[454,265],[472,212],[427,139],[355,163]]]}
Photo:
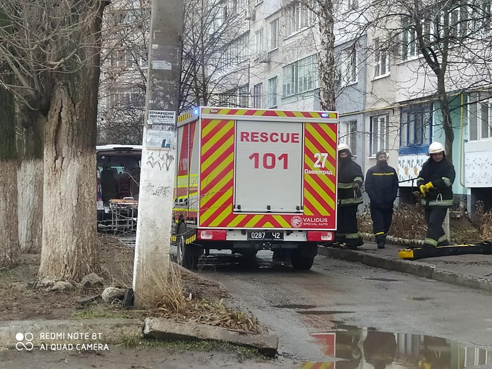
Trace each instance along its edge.
{"label": "broken concrete curb along bottom left foreground, both segments together", "polygon": [[[19,333],[22,333],[22,338],[19,338]],[[33,347],[40,350],[43,344],[47,347],[45,350],[52,350],[51,345],[55,345],[57,351],[61,350],[63,345],[66,347],[71,345],[68,350],[104,351],[109,349],[104,348],[105,345],[141,338],[225,341],[255,347],[260,353],[269,357],[274,357],[278,348],[277,336],[237,332],[212,325],[181,323],[163,318],[146,318],[145,321],[139,319],[0,321],[0,350],[17,348],[17,350],[30,351]]]}

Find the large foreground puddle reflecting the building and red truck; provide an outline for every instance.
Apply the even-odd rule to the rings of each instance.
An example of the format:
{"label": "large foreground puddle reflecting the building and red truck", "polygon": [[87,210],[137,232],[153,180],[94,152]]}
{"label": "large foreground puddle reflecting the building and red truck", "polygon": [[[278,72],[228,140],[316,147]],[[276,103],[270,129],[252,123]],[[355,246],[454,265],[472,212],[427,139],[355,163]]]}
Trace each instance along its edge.
{"label": "large foreground puddle reflecting the building and red truck", "polygon": [[492,350],[440,337],[380,332],[343,324],[311,336],[330,359],[303,362],[301,369],[463,369],[492,364]]}

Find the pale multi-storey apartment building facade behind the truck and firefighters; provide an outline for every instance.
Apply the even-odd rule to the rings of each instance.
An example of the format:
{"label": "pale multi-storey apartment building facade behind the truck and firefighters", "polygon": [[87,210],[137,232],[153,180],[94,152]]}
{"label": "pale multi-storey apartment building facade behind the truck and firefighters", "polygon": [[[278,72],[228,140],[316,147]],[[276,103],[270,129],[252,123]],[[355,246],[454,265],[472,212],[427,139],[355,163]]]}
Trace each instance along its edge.
{"label": "pale multi-storey apartment building facade behind the truck and firefighters", "polygon": [[[235,29],[217,65],[204,66],[221,81],[209,105],[320,109],[318,1],[213,0],[213,6],[220,7],[222,20],[234,17]],[[419,52],[415,29],[405,26],[404,18],[364,27],[361,15],[384,12],[376,9],[374,15],[369,11],[374,7],[369,0],[335,3],[340,140],[350,145],[364,172],[375,165],[376,152],[386,150],[389,164],[398,170],[401,199],[412,201],[428,145],[444,143],[437,81]],[[474,86],[470,78],[483,77],[477,74],[454,70],[446,80],[455,137],[453,190],[468,210],[476,200],[492,205],[492,95],[484,84],[467,87]],[[107,101],[111,106],[116,99]]]}

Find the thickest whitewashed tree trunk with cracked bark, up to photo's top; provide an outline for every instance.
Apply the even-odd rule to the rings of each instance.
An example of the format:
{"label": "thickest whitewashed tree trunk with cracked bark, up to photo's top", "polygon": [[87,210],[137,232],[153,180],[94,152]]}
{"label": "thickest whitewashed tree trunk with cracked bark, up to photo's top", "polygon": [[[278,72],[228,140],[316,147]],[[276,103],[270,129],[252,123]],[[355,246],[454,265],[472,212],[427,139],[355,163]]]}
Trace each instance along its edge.
{"label": "thickest whitewashed tree trunk with cracked bark, up to photo's top", "polygon": [[[96,234],[96,116],[101,15],[86,18],[85,48],[51,77],[44,126],[43,247],[39,277],[80,280],[98,271]],[[88,46],[87,46],[88,45]],[[77,64],[76,60],[84,60]]]}

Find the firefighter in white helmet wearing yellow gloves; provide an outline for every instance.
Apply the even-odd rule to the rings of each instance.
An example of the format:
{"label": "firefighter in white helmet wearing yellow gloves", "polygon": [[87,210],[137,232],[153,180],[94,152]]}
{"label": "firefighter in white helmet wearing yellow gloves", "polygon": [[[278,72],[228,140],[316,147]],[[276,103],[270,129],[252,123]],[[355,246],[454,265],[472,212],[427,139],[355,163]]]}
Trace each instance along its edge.
{"label": "firefighter in white helmet wearing yellow gloves", "polygon": [[442,222],[447,209],[453,205],[453,182],[455,168],[446,160],[444,146],[433,142],[429,146],[429,159],[424,162],[417,178],[417,186],[422,194],[421,203],[425,207],[427,234],[424,248],[446,246],[449,244]]}

